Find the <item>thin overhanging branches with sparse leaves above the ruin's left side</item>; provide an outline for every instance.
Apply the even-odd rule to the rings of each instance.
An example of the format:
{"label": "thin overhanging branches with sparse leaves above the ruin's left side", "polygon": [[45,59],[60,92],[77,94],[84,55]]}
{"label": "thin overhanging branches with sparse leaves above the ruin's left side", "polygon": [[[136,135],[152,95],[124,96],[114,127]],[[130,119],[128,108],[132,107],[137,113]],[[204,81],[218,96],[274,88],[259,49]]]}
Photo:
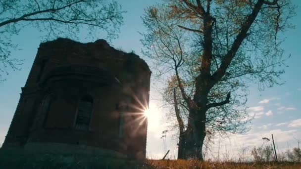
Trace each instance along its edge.
{"label": "thin overhanging branches with sparse leaves above the ruin's left side", "polygon": [[76,37],[82,28],[90,36],[104,32],[115,38],[122,13],[114,0],[0,0],[0,78],[7,67],[19,69],[20,60],[10,56],[16,47],[11,36],[22,28],[38,28],[47,33],[47,40]]}

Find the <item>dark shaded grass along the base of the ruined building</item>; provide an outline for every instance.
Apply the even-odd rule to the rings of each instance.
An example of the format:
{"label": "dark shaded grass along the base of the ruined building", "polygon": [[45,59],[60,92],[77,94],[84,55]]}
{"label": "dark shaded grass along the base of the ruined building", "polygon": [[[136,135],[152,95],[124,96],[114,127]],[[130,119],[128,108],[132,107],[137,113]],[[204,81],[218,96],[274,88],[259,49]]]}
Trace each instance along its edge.
{"label": "dark shaded grass along the base of the ruined building", "polygon": [[140,169],[143,162],[80,155],[0,155],[0,169]]}

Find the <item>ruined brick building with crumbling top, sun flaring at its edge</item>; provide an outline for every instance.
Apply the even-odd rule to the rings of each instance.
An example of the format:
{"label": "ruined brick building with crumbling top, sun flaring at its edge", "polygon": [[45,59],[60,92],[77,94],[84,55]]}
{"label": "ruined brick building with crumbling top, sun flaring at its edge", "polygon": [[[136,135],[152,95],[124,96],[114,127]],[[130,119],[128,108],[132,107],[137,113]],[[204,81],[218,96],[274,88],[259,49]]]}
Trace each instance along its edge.
{"label": "ruined brick building with crumbling top, sun flaring at its edge", "polygon": [[2,150],[145,158],[150,77],[104,40],[41,43]]}

